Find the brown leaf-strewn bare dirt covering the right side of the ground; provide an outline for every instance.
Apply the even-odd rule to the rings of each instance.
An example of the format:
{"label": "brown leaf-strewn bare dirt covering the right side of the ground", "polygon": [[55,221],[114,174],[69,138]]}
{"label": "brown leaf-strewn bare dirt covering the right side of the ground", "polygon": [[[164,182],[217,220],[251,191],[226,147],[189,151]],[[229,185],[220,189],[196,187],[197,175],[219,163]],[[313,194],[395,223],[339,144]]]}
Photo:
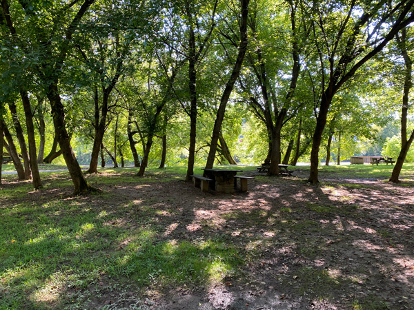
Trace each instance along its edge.
{"label": "brown leaf-strewn bare dirt covering the right side of the ground", "polygon": [[246,256],[240,278],[148,287],[152,309],[414,309],[413,184],[327,174],[313,186],[307,171],[248,174],[257,178],[247,193],[203,193],[177,181],[113,189],[165,210],[161,238],[225,236]]}

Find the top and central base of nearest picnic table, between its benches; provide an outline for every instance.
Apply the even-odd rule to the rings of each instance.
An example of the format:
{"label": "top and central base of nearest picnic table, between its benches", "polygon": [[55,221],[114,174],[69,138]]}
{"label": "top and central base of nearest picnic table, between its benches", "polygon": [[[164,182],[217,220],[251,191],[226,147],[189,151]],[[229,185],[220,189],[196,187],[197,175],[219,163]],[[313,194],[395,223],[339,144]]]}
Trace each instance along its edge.
{"label": "top and central base of nearest picnic table, between its benches", "polygon": [[214,189],[220,193],[233,194],[235,192],[235,176],[239,169],[201,169],[204,170],[204,176],[210,178],[210,189]]}

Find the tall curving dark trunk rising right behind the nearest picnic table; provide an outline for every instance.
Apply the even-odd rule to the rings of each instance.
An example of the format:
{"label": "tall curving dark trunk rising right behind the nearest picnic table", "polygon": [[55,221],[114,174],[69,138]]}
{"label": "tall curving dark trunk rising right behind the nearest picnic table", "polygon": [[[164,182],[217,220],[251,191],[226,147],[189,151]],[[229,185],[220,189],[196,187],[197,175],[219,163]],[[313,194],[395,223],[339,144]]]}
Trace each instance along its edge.
{"label": "tall curving dark trunk rising right behind the nearest picnic table", "polygon": [[217,110],[217,116],[214,123],[213,128],[213,136],[211,137],[210,143],[210,151],[208,152],[206,168],[212,168],[215,160],[215,153],[217,149],[217,142],[219,140],[219,134],[221,131],[221,124],[223,123],[224,113],[226,112],[226,106],[228,103],[228,99],[230,98],[230,94],[233,91],[233,87],[235,85],[236,80],[239,77],[240,70],[242,69],[244,55],[246,54],[247,50],[247,17],[248,17],[248,3],[250,0],[241,0],[241,12],[242,12],[242,19],[240,21],[240,45],[239,45],[239,53],[237,54],[237,59],[235,62],[235,66],[231,73],[230,79],[226,83],[226,87],[224,89],[223,95],[221,96],[221,101],[219,105],[219,109]]}

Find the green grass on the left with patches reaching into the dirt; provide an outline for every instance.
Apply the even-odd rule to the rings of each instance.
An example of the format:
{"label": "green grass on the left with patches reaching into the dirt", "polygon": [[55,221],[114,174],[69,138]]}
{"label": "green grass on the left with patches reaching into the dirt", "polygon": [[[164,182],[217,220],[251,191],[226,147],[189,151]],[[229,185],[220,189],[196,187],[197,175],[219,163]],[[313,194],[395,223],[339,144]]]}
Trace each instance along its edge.
{"label": "green grass on the left with patches reaching into the dirt", "polygon": [[[404,175],[412,181],[409,175],[414,166],[407,166]],[[255,167],[242,169],[255,171]],[[384,178],[391,168],[321,169],[339,176]],[[206,289],[236,278],[246,282],[251,276],[247,270],[263,266],[271,251],[279,251],[274,257],[281,270],[290,260],[311,262],[291,266],[286,276],[277,273],[277,279],[299,295],[329,299],[335,294],[331,291],[340,295],[351,286],[349,280],[312,262],[331,251],[324,236],[336,232],[326,223],[348,216],[357,220],[358,205],[312,200],[299,207],[285,202],[261,209],[252,204],[248,211],[235,209],[219,215],[227,230],[220,221],[200,219],[202,234],[189,238],[185,231],[175,231],[174,225],[191,224],[194,220],[186,223],[190,215],[168,222],[168,217],[183,216],[179,196],[119,196],[124,188],[139,191],[184,180],[186,167],[150,168],[144,178],[135,176],[136,172],[136,168],[101,169],[100,174],[87,178],[106,190],[79,197],[68,195],[72,183],[67,172],[42,172],[44,188],[39,192],[33,191],[30,182],[17,183],[15,175],[3,175],[7,184],[0,188],[0,309],[132,309],[132,304],[147,309],[150,305],[145,298],[159,292]],[[202,174],[201,167],[195,174]],[[267,179],[262,177],[263,182]],[[284,184],[283,178],[270,183]],[[353,183],[331,183],[326,188],[335,191],[342,187],[366,188]],[[233,198],[219,199],[231,203]],[[202,205],[203,196],[199,199]],[[309,217],[299,218],[304,212]],[[168,227],[175,234],[166,235]],[[382,229],[377,234],[394,242],[393,231]],[[331,239],[340,242],[336,235]],[[286,253],[293,253],[293,258],[286,258]],[[117,298],[105,304],[108,296]],[[386,309],[376,296],[355,298],[349,306]]]}

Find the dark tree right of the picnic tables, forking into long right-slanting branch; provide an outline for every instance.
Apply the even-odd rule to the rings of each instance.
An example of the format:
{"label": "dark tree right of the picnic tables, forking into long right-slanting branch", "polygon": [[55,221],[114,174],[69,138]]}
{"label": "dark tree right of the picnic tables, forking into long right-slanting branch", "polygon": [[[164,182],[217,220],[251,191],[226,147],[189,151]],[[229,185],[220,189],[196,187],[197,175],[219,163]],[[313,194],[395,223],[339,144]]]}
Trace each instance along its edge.
{"label": "dark tree right of the picnic tables, forking into long right-slanting branch", "polygon": [[317,1],[308,6],[315,56],[319,59],[317,84],[320,85],[309,183],[319,182],[319,146],[333,97],[397,32],[414,21],[413,4],[414,0],[397,3],[380,0],[361,5],[353,0],[349,4]]}

